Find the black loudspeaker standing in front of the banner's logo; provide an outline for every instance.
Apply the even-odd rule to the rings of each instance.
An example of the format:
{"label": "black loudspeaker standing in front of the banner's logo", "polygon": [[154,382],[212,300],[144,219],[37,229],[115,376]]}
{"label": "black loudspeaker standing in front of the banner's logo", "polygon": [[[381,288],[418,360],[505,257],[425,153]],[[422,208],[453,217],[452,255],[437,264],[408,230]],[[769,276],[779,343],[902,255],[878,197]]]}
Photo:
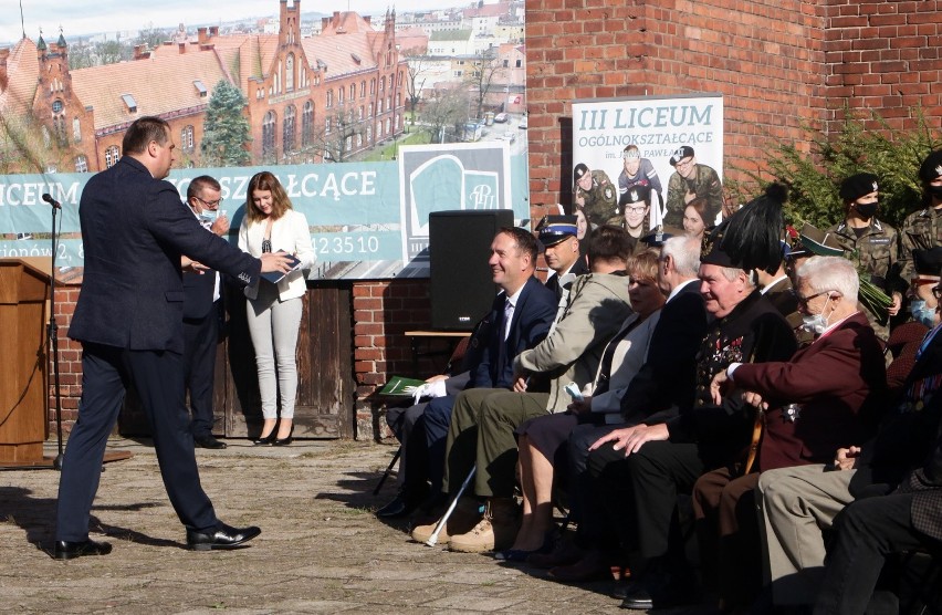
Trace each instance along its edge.
{"label": "black loudspeaker standing in front of the banner's logo", "polygon": [[488,314],[496,295],[491,242],[512,226],[510,209],[429,213],[432,329],[471,331]]}

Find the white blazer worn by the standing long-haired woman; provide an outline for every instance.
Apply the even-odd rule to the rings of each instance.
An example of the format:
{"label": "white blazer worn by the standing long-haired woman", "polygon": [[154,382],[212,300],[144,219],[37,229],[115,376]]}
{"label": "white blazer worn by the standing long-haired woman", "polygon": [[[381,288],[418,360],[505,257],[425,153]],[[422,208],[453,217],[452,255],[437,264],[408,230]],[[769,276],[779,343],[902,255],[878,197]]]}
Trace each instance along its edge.
{"label": "white blazer worn by the standing long-haired woman", "polygon": [[[253,257],[262,256],[262,240],[265,238],[265,220],[249,223],[249,217],[242,219],[239,227],[239,249],[249,252]],[[304,295],[307,290],[303,270],[314,267],[316,257],[314,246],[311,243],[311,228],[304,213],[289,209],[284,216],[272,222],[272,252],[284,250],[301,260],[301,269],[292,271],[278,283],[278,296],[282,301]],[[245,286],[245,296],[255,299],[259,296],[259,284]],[[266,282],[268,283],[268,282]]]}

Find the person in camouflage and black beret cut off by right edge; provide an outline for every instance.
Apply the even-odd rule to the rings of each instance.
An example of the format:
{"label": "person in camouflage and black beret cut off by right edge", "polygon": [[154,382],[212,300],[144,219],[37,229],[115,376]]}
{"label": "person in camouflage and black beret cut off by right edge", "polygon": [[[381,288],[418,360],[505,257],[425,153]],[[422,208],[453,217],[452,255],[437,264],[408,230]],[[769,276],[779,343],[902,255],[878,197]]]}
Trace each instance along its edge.
{"label": "person in camouflage and black beret cut off by right edge", "polygon": [[922,161],[919,179],[922,181],[923,208],[907,216],[900,229],[903,280],[912,278],[913,250],[931,250],[942,246],[942,149],[933,152]]}

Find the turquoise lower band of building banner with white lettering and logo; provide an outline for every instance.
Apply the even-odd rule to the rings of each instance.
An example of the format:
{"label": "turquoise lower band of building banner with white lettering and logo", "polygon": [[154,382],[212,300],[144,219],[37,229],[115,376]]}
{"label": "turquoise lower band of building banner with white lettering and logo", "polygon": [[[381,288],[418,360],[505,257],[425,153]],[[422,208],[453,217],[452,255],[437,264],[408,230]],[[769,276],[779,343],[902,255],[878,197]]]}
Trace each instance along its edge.
{"label": "turquoise lower band of building banner with white lettering and logo", "polygon": [[[245,188],[260,170],[274,173],[293,207],[307,218],[317,253],[312,280],[427,277],[431,211],[513,209],[517,223],[530,219],[526,150],[512,155],[501,140],[402,146],[399,160],[387,163],[180,169],[167,180],[186,195],[193,177],[219,179],[220,210],[230,218],[234,244]],[[78,201],[90,177],[0,176],[0,258],[51,256],[51,208],[42,200],[49,194],[62,204],[55,264],[81,267]]]}

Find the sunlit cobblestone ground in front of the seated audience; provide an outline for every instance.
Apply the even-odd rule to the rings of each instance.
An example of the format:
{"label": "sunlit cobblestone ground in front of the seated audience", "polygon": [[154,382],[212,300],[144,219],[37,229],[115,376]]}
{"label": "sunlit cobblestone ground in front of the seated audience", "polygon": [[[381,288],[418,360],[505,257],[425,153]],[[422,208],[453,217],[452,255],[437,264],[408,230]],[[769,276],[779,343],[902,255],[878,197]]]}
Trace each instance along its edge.
{"label": "sunlit cobblestone ground in front of the seated audience", "polygon": [[[219,517],[258,524],[251,546],[187,551],[149,442],[115,439],[134,457],[105,466],[92,538],[111,555],[52,560],[59,472],[0,472],[0,611],[15,613],[626,613],[607,583],[572,586],[488,555],[410,542],[405,522],[371,512],[371,491],[395,448],[229,440],[197,451]],[[48,449],[54,455],[54,447]]]}

